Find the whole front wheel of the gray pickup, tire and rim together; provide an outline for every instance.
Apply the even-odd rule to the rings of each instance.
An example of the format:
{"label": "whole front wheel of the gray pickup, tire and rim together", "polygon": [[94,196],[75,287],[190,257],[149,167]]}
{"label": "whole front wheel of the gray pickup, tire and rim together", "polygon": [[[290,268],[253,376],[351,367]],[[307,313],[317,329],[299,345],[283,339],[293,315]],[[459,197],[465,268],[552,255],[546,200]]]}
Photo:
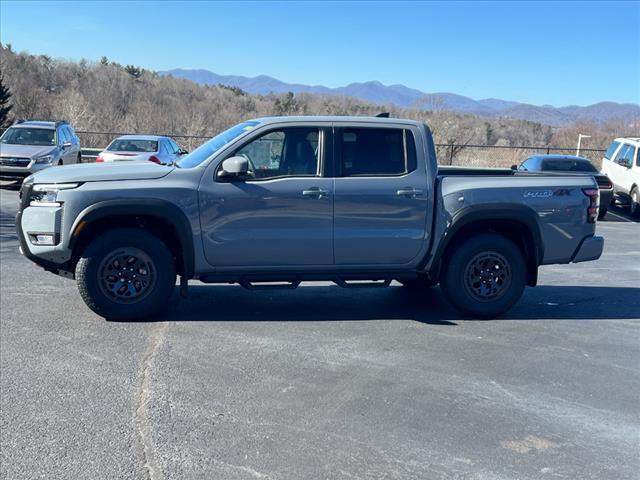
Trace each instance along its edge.
{"label": "whole front wheel of the gray pickup, tire and rim together", "polygon": [[121,228],[98,236],[76,264],[82,299],[113,320],[143,319],[162,310],[176,282],[166,244],[144,230]]}

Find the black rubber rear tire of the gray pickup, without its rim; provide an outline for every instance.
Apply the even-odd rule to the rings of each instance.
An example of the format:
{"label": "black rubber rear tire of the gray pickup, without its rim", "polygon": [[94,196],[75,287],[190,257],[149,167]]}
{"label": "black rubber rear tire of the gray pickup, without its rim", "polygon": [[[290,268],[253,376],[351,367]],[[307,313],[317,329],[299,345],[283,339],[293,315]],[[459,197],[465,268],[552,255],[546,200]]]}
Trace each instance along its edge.
{"label": "black rubber rear tire of the gray pickup, without its rim", "polygon": [[[522,296],[526,285],[527,267],[522,251],[508,238],[498,234],[481,234],[457,246],[448,256],[440,286],[445,298],[466,315],[493,318],[509,310]],[[471,296],[465,286],[465,273],[469,262],[483,252],[502,255],[511,269],[511,285],[495,301],[481,302]]]}

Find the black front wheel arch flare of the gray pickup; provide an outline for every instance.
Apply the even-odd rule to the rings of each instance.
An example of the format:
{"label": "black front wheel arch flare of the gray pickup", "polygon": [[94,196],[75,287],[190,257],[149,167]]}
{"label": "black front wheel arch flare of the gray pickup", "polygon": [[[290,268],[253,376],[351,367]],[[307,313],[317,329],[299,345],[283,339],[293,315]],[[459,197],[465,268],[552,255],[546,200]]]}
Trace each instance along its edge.
{"label": "black front wheel arch flare of the gray pickup", "polygon": [[114,227],[145,229],[167,244],[179,274],[192,278],[195,269],[193,233],[182,210],[160,199],[117,199],[85,208],[75,219],[69,238],[73,265],[90,241]]}

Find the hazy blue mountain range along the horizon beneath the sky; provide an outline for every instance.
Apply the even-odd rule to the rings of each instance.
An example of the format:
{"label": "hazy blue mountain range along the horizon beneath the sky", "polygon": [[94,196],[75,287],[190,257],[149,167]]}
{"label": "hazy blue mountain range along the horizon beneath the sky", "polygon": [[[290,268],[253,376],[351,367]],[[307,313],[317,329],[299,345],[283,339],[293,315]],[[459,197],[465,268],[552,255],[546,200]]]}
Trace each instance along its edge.
{"label": "hazy blue mountain range along the horizon beneath the sky", "polygon": [[640,105],[633,103],[600,102],[588,106],[537,106],[497,98],[474,100],[447,92],[425,93],[405,85],[383,85],[378,81],[350,83],[344,87],[330,88],[322,85],[286,83],[267,75],[259,75],[257,77],[218,75],[209,70],[180,68],[158,73],[191,80],[203,85],[221,84],[238,87],[245,92],[259,95],[304,92],[349,96],[380,105],[396,105],[404,108],[418,107],[425,110],[448,110],[482,117],[529,120],[556,126],[580,121],[602,124],[614,120],[624,121],[629,124],[640,124]]}

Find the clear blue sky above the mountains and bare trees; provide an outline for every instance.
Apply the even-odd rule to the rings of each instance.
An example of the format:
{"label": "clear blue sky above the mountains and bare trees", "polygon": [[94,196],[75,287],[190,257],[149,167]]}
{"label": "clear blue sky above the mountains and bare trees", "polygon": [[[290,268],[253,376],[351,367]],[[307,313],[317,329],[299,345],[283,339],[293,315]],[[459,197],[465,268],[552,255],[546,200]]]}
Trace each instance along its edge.
{"label": "clear blue sky above the mountains and bare trees", "polygon": [[533,104],[640,103],[640,2],[0,2],[0,40],[67,59]]}

